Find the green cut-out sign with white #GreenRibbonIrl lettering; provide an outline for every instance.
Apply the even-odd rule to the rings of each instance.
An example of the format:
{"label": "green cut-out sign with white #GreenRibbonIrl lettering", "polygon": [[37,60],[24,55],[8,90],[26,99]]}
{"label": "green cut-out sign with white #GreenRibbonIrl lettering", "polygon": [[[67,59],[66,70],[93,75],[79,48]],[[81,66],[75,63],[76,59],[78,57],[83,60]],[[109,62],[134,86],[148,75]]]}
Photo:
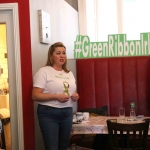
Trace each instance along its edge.
{"label": "green cut-out sign with white #GreenRibbonIrl lettering", "polygon": [[107,42],[90,42],[88,36],[77,35],[74,58],[98,58],[150,55],[150,33],[141,33],[140,40],[126,40],[126,34],[108,35]]}

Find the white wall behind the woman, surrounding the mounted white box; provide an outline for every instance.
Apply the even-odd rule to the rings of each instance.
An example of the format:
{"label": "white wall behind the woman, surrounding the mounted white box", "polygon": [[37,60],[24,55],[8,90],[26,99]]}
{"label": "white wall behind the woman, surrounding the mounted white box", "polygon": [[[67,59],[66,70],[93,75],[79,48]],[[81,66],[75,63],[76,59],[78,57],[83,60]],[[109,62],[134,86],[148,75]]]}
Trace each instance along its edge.
{"label": "white wall behind the woman, surrounding the mounted white box", "polygon": [[[32,72],[45,65],[47,52],[50,44],[61,41],[67,48],[68,68],[76,77],[75,60],[73,59],[74,41],[78,35],[78,13],[64,0],[30,0],[30,25],[31,25],[31,50],[32,50]],[[50,14],[51,43],[41,44],[39,42],[38,10],[44,10]],[[43,139],[39,129],[35,102],[35,142],[36,150],[44,150]],[[73,110],[76,111],[77,104],[74,103]]]}

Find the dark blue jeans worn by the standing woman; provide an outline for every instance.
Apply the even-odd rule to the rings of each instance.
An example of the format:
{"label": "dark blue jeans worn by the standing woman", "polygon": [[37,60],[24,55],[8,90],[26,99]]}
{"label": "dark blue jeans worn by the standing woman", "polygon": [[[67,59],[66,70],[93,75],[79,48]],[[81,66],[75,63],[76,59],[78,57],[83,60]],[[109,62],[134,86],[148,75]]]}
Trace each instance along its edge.
{"label": "dark blue jeans worn by the standing woman", "polygon": [[38,104],[37,115],[45,150],[67,150],[72,129],[72,107],[55,108]]}

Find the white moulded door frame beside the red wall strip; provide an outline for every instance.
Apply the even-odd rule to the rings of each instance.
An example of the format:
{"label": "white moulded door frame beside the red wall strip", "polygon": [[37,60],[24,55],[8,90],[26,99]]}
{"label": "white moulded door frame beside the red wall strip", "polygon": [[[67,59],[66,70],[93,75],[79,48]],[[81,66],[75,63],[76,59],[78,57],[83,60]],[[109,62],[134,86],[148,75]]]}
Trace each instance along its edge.
{"label": "white moulded door frame beside the red wall strip", "polygon": [[[16,103],[17,116],[15,116],[16,124],[11,124],[11,138],[13,150],[24,150],[23,136],[23,112],[22,112],[22,83],[21,83],[21,66],[20,66],[20,37],[19,37],[19,17],[18,3],[1,3],[0,11],[11,10],[13,13],[13,38],[14,38],[14,53],[15,53],[15,78],[16,78]],[[10,102],[11,105],[11,102]],[[11,108],[11,106],[10,106]],[[15,109],[15,108],[12,108]],[[11,112],[11,110],[10,110]],[[10,114],[11,116],[11,114]],[[14,131],[17,133],[14,134]],[[17,138],[16,138],[17,136]],[[15,139],[18,141],[15,142]],[[17,145],[16,145],[17,144]]]}

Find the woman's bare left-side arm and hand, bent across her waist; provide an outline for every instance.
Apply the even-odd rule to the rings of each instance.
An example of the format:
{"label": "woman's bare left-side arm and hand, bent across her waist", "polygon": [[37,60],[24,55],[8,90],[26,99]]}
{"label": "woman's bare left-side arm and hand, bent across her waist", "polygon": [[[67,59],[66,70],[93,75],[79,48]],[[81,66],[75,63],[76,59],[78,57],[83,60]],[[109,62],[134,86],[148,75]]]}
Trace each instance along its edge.
{"label": "woman's bare left-side arm and hand, bent across her waist", "polygon": [[65,102],[67,102],[69,100],[69,96],[67,96],[65,94],[43,93],[43,89],[42,88],[33,87],[32,99],[34,101],[39,101],[39,102],[58,100],[61,103],[65,103]]}

